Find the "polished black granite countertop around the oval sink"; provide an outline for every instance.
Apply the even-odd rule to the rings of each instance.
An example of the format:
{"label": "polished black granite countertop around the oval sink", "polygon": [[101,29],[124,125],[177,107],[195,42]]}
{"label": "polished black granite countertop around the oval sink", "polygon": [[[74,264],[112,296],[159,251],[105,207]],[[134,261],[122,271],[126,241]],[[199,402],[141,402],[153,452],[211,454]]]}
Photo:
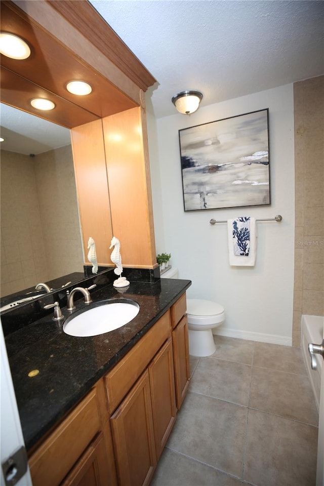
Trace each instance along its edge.
{"label": "polished black granite countertop around the oval sink", "polygon": [[[123,357],[191,285],[190,280],[111,284],[91,291],[93,302],[131,299],[140,305],[127,325],[99,336],[73,337],[53,313],[6,337],[6,346],[27,451]],[[80,296],[80,294],[77,294]],[[76,311],[86,307],[76,302]],[[65,317],[70,315],[62,308]],[[38,370],[35,376],[28,374]]]}

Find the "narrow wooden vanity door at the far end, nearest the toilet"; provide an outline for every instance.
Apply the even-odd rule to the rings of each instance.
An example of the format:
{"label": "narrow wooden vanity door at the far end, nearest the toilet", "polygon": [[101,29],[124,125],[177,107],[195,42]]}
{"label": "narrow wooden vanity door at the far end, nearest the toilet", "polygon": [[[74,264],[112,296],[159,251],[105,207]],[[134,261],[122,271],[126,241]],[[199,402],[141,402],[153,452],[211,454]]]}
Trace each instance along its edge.
{"label": "narrow wooden vanity door at the far end, nearest the toilet", "polygon": [[185,397],[190,380],[189,344],[187,316],[183,316],[172,331],[174,372],[176,383],[177,409]]}

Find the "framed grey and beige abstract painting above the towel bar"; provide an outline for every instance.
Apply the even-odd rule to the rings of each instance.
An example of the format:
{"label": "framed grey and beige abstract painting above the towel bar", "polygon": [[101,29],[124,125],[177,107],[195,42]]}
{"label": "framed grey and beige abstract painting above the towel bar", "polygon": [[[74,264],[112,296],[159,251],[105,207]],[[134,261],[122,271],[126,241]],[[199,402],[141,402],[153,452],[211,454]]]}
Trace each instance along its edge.
{"label": "framed grey and beige abstract painting above the towel bar", "polygon": [[184,211],[269,206],[269,108],[179,130]]}

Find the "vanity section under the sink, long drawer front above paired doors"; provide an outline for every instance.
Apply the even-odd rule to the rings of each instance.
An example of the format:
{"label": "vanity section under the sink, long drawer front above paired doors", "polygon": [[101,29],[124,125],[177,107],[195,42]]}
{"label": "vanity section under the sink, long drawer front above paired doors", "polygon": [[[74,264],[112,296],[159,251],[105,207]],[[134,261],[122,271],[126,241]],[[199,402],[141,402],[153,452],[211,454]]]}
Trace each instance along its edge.
{"label": "vanity section under the sink, long drawer front above paired doors", "polygon": [[[177,412],[170,311],[107,374],[105,383],[118,483],[149,484]],[[120,390],[126,389],[113,411]]]}

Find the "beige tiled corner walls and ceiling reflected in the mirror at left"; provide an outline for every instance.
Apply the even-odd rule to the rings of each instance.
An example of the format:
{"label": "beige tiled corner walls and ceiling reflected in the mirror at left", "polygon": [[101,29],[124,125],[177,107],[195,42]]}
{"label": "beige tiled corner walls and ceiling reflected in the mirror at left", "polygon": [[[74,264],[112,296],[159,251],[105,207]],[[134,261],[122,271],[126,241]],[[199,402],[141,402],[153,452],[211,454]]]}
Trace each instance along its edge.
{"label": "beige tiled corner walls and ceiling reflected in the mirror at left", "polygon": [[[7,138],[7,143],[1,144],[2,297],[38,282],[83,272],[72,150],[67,145],[69,130],[28,114],[30,130],[34,122],[41,121],[46,127],[42,130],[51,126],[65,131],[55,142],[32,144],[31,133],[22,137],[15,132],[18,122],[8,130],[10,117],[4,116],[8,108],[15,110],[2,109],[2,136],[7,131],[13,142],[9,145]],[[21,112],[15,111],[21,117]],[[29,152],[31,147],[35,150]]]}

